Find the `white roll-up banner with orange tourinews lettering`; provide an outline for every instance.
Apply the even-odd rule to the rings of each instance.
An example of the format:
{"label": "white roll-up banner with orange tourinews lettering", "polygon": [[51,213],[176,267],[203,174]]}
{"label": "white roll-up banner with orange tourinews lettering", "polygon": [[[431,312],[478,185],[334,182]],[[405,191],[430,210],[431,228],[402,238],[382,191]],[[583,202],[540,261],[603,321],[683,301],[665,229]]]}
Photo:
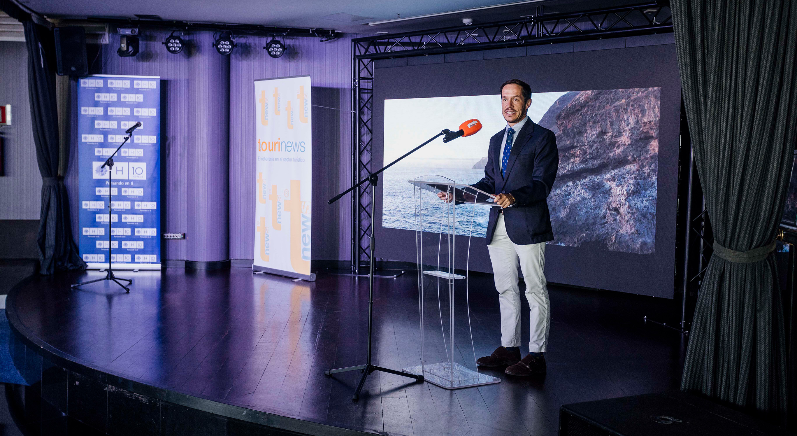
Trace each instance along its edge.
{"label": "white roll-up banner with orange tourinews lettering", "polygon": [[310,77],[254,81],[257,185],[253,269],[314,281]]}

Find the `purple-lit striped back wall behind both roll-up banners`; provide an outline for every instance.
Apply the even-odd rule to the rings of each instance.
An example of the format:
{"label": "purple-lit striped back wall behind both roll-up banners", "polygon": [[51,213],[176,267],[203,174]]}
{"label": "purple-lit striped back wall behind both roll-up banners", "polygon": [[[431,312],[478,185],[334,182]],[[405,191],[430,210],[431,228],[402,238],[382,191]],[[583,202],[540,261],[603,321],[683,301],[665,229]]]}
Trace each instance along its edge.
{"label": "purple-lit striped back wall behind both roll-up banners", "polygon": [[[163,86],[161,108],[162,148],[162,187],[161,203],[164,208],[163,232],[186,232],[187,239],[164,242],[163,259],[203,260],[192,248],[189,230],[190,201],[187,180],[191,175],[189,168],[189,145],[191,135],[189,123],[191,89],[200,89],[192,84],[203,75],[220,74],[219,71],[203,71],[214,68],[198,59],[192,61],[192,50],[183,53],[167,53],[161,42],[169,32],[145,30],[141,37],[140,53],[136,57],[119,57],[119,36],[111,35],[111,41],[103,46],[96,63],[102,64],[100,70],[105,74],[130,74],[137,76],[160,76]],[[283,41],[289,50],[283,57],[273,59],[262,49],[267,37],[240,37],[238,47],[230,56],[229,81],[229,191],[225,200],[229,230],[219,229],[217,233],[229,234],[229,258],[251,259],[254,242],[254,159],[257,139],[254,135],[254,97],[253,81],[268,77],[287,77],[309,74],[312,77],[313,116],[313,259],[344,259],[350,257],[350,198],[343,198],[333,206],[326,201],[349,185],[351,163],[351,37],[347,35],[336,41],[320,42],[316,38],[294,37]],[[212,47],[212,33],[199,32],[187,34],[184,39],[195,41],[198,56],[220,57]],[[89,60],[91,63],[92,59]],[[196,65],[197,69],[194,69]],[[96,67],[96,65],[94,65]],[[194,69],[194,71],[192,71]],[[206,84],[207,86],[208,84]],[[214,97],[221,100],[221,96]],[[327,108],[321,108],[325,106]],[[330,109],[332,108],[332,109]],[[77,108],[73,108],[77,110]],[[198,112],[197,112],[198,113]],[[210,112],[206,112],[210,116]],[[215,112],[214,112],[215,113]],[[219,117],[222,117],[219,112]],[[77,117],[77,112],[73,112]],[[222,118],[216,118],[216,126]],[[77,120],[77,118],[75,118]],[[214,118],[206,120],[211,124]],[[73,131],[76,129],[73,129]],[[218,132],[216,132],[218,133]],[[214,133],[215,134],[215,133]],[[217,139],[220,142],[220,139]],[[73,211],[73,231],[77,235],[77,136],[73,132],[73,161],[69,166],[67,186]],[[198,156],[194,156],[194,159]],[[218,183],[215,187],[224,186]],[[206,185],[204,189],[214,189]],[[221,196],[222,194],[218,194]],[[198,205],[195,205],[198,206]],[[218,211],[218,210],[217,210]],[[214,218],[221,222],[222,218]],[[196,223],[194,223],[196,224]],[[198,231],[198,230],[193,230]],[[195,236],[195,235],[194,235]],[[222,238],[214,242],[221,246]],[[206,242],[210,243],[210,242]],[[214,248],[218,251],[221,249]],[[200,248],[200,251],[202,249]],[[225,257],[227,258],[227,257]],[[221,260],[205,257],[205,260]]]}

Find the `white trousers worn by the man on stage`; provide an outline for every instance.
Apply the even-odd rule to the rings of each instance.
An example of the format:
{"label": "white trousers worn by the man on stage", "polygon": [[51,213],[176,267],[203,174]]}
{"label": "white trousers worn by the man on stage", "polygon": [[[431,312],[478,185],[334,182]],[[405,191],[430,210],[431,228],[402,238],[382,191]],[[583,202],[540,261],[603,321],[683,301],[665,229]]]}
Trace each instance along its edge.
{"label": "white trousers worn by the man on stage", "polygon": [[545,281],[545,242],[517,245],[506,234],[504,215],[498,215],[493,242],[487,245],[493,263],[493,277],[501,304],[501,346],[520,347],[520,289],[517,286],[517,266],[526,282],[529,313],[529,352],[544,352],[548,345],[551,324],[551,304]]}

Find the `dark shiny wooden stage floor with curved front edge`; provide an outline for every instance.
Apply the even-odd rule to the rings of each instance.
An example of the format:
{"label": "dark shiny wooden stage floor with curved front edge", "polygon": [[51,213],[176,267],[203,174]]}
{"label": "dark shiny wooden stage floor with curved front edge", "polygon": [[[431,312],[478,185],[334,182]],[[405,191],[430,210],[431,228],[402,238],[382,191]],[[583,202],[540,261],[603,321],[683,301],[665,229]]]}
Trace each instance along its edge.
{"label": "dark shiny wooden stage floor with curved front edge", "polygon": [[[69,289],[101,275],[36,278],[17,290],[14,310],[38,340],[100,371],[346,429],[553,435],[562,404],[673,390],[681,379],[681,335],[642,320],[671,313],[672,300],[550,285],[544,377],[481,368],[501,383],[446,391],[375,372],[353,403],[359,371],[333,377],[324,371],[364,363],[367,278],[320,273],[308,283],[243,268],[167,269],[118,273],[135,279],[129,294],[108,282]],[[416,284],[414,272],[376,279],[375,364],[399,370],[418,364]],[[457,361],[476,369],[464,291],[458,292]],[[470,305],[476,354],[489,355],[501,336],[492,276],[472,275]],[[523,331],[528,341],[525,301]],[[427,336],[432,340],[442,344],[439,326],[434,339]],[[445,360],[442,345],[437,350],[430,361]]]}

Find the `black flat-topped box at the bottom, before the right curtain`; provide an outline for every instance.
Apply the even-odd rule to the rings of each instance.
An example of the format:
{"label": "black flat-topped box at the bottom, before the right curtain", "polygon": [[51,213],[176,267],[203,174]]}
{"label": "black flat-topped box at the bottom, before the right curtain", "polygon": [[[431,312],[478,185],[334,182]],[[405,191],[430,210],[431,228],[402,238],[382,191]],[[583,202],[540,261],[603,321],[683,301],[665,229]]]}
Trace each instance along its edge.
{"label": "black flat-topped box at the bottom, before the right curtain", "polygon": [[566,404],[559,436],[787,436],[767,422],[681,391]]}

